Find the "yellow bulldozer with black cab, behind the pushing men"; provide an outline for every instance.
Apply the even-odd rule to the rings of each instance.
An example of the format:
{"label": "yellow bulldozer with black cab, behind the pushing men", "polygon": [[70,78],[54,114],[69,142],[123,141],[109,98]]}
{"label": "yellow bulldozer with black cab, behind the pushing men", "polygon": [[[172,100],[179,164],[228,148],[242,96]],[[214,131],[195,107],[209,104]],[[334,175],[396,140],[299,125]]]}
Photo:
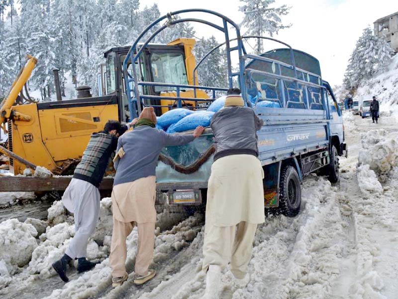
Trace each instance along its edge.
{"label": "yellow bulldozer with black cab, behind the pushing men", "polygon": [[[148,44],[137,67],[142,81],[198,85],[194,78],[196,59],[192,50],[195,39],[178,38],[168,44]],[[114,47],[104,53],[106,71],[99,74],[100,96],[92,97],[90,90],[80,88],[77,99],[15,105],[18,94],[37,62],[28,55],[25,65],[11,86],[10,92],[0,106],[0,124],[8,135],[6,147],[0,147],[9,156],[10,172],[22,174],[26,167],[46,167],[54,174],[68,174],[76,164],[93,132],[101,131],[104,124],[115,119],[121,122],[131,120],[128,110],[123,61],[130,47]],[[128,72],[132,66],[128,66]],[[197,74],[195,73],[195,77]],[[194,84],[195,83],[195,84]],[[59,86],[56,86],[59,88]],[[160,116],[172,109],[175,90],[147,86],[145,94],[165,97],[156,99]],[[179,91],[180,96],[193,98],[193,90]],[[196,91],[196,98],[208,99],[202,91]],[[198,103],[203,108],[208,101]],[[186,101],[187,106],[195,105]],[[64,190],[70,178],[40,181],[20,176],[1,177],[0,191],[48,191]],[[103,189],[110,189],[111,182],[104,179]]]}

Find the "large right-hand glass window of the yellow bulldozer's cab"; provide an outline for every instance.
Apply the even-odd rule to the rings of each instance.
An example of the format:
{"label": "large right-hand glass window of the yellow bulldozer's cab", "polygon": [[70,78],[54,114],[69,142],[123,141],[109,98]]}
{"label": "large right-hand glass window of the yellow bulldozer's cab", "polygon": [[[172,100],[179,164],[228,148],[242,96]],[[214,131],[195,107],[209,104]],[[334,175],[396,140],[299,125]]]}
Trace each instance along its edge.
{"label": "large right-hand glass window of the yellow bulldozer's cab", "polygon": [[[187,71],[182,53],[153,53],[151,69],[154,82],[188,84]],[[156,86],[155,91],[176,90],[175,87]]]}

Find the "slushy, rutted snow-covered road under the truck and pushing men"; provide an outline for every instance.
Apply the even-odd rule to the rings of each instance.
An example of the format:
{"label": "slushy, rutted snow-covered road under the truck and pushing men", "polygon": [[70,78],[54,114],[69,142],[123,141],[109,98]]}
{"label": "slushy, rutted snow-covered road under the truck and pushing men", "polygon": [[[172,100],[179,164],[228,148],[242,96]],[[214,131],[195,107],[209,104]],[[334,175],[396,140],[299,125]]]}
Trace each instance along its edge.
{"label": "slushy, rutted snow-covered road under the truck and pushing men", "polygon": [[[268,217],[258,227],[249,265],[251,281],[246,288],[235,289],[226,269],[222,276],[222,299],[397,298],[398,168],[394,150],[388,151],[396,146],[397,120],[382,117],[378,125],[373,125],[370,119],[357,116],[346,115],[344,119],[349,157],[340,158],[339,183],[332,186],[323,177],[306,177],[301,212],[295,218]],[[373,134],[369,132],[372,129],[385,131]],[[364,149],[361,139],[374,142],[375,146]],[[376,163],[389,171],[375,174],[366,165],[357,171],[358,155],[364,164],[368,152],[378,161],[367,163]],[[386,152],[388,159],[378,158],[378,154]],[[91,251],[94,256],[105,258],[109,232],[104,228],[109,220],[109,203],[104,201],[102,205],[101,233],[97,238],[103,244],[93,242]],[[45,242],[39,245],[40,250],[36,249],[47,252],[49,257],[33,254],[35,263],[19,270],[21,273],[13,276],[8,287],[0,289],[0,298],[198,299],[203,295],[205,279],[199,271],[202,215],[179,219],[161,214],[154,256],[158,275],[147,285],[135,287],[130,280],[115,290],[110,288],[107,259],[89,273],[71,274],[71,281],[65,285],[53,276],[49,268],[51,254],[62,252],[73,234],[73,226],[64,223],[68,222],[66,218],[57,213],[54,217],[58,217],[55,219],[60,224],[54,226],[54,232],[47,231],[40,237]],[[177,225],[173,227],[174,224]],[[134,230],[128,239],[130,271],[136,242]]]}

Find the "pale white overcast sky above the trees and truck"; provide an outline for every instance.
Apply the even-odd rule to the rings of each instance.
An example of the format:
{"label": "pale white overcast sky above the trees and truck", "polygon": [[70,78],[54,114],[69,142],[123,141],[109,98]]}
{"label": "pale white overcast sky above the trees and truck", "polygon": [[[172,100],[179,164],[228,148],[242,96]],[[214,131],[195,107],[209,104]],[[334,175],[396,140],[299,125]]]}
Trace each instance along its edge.
{"label": "pale white overcast sky above the trees and truck", "polygon": [[[142,7],[157,3],[162,15],[185,8],[206,8],[238,24],[243,19],[239,0],[200,0],[193,4],[182,0],[141,0],[140,3]],[[320,62],[322,78],[332,86],[342,84],[348,59],[362,30],[368,25],[373,29],[375,20],[398,11],[398,2],[394,0],[276,0],[271,6],[283,4],[292,6],[290,13],[282,18],[292,27],[274,37],[315,56]],[[200,24],[194,28],[199,37],[214,34],[220,42],[224,41],[215,29]],[[249,43],[255,46],[254,40]],[[279,46],[275,43],[264,44],[265,50],[276,47]]]}

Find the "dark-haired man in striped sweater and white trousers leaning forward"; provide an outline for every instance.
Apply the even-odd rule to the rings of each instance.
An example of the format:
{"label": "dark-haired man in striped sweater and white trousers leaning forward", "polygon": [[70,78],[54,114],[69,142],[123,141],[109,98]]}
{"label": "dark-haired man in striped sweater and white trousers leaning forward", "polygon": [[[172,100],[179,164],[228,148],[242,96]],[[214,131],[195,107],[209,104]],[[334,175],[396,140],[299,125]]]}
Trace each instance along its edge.
{"label": "dark-haired man in striped sweater and white trousers leaning forward", "polygon": [[[129,124],[129,125],[132,125]],[[103,131],[93,133],[73,178],[62,197],[64,206],[74,214],[76,234],[64,256],[52,264],[64,282],[67,264],[78,259],[78,272],[91,270],[96,263],[86,260],[87,243],[94,233],[100,212],[100,182],[110,155],[117,147],[117,138],[127,130],[118,121],[110,120]]]}

